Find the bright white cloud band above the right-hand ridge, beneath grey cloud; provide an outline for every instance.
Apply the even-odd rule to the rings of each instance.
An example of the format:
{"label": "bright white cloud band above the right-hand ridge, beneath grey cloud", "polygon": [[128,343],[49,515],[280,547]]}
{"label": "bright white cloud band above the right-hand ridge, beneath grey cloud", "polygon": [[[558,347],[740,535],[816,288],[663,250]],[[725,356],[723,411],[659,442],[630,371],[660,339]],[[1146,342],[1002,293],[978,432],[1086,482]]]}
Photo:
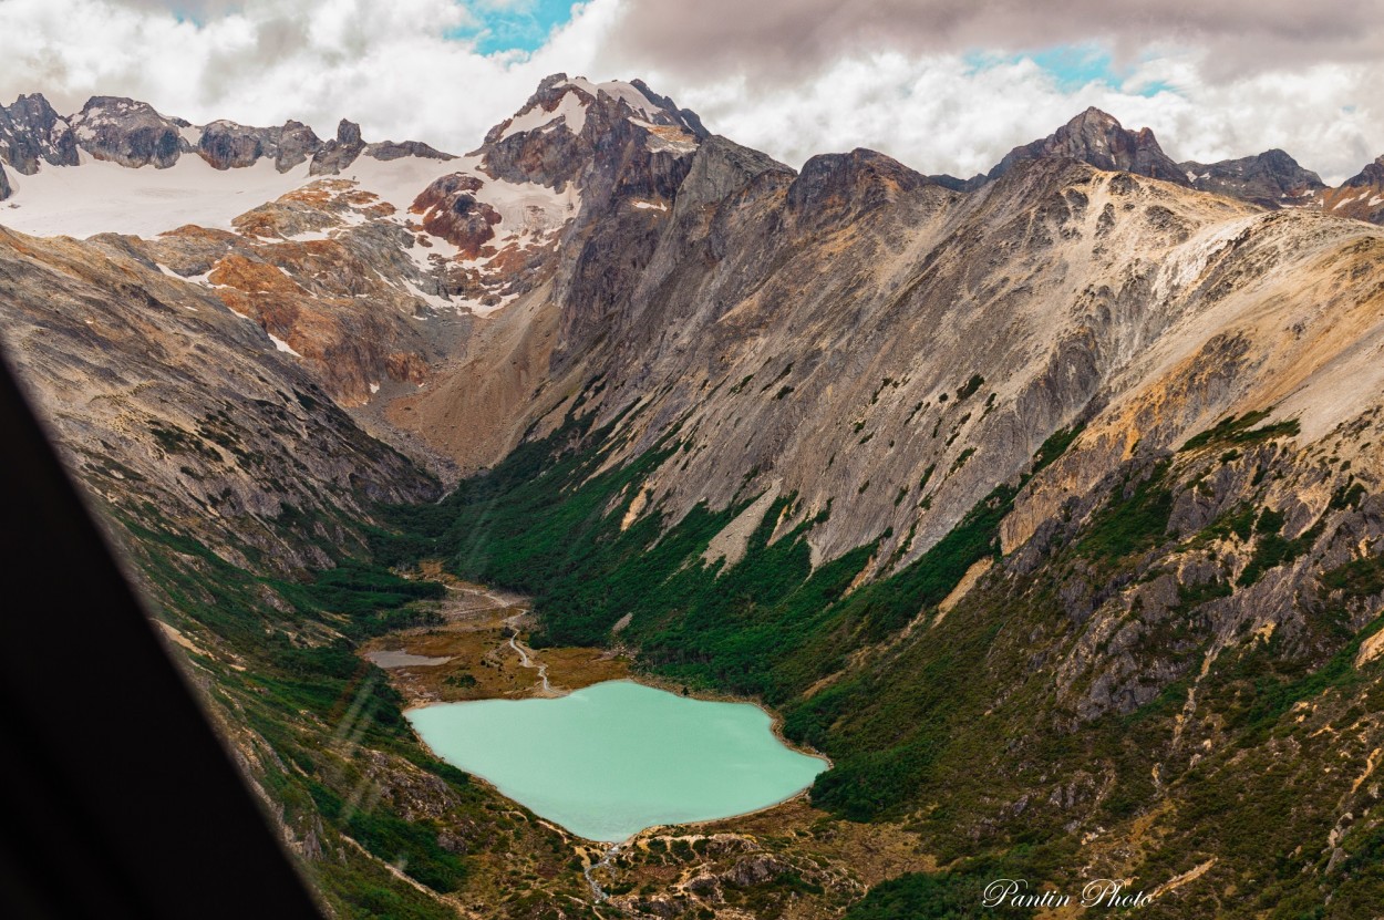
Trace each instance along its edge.
{"label": "bright white cloud band above the right-hand ridge, beneath grey cloud", "polygon": [[[1384,111],[1369,91],[1381,77],[1380,65],[1331,64],[1211,84],[1196,61],[1156,58],[1125,84],[1138,90],[1157,80],[1176,89],[1142,95],[1103,82],[1067,91],[1027,58],[977,69],[960,55],[891,51],[846,57],[783,86],[745,76],[652,79],[711,130],[792,166],[814,154],[869,147],[925,173],[969,177],[1096,105],[1127,127],[1153,127],[1178,160],[1280,147],[1338,181],[1384,152]],[[1355,111],[1342,111],[1348,105]]]}

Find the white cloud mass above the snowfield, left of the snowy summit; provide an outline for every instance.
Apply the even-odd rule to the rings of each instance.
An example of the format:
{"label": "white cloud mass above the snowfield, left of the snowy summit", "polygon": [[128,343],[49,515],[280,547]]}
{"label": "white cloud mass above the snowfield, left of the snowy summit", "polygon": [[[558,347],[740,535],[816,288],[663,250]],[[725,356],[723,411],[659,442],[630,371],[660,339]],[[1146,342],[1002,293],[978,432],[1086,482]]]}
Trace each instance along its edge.
{"label": "white cloud mass above the snowfield, left of the snowy summit", "polygon": [[129,95],[195,123],[293,118],[322,136],[350,118],[367,140],[461,152],[543,76],[594,69],[619,7],[591,0],[533,55],[482,55],[446,37],[475,24],[451,0],[201,4],[199,22],[152,3],[0,0],[0,98],[42,91],[69,112]]}

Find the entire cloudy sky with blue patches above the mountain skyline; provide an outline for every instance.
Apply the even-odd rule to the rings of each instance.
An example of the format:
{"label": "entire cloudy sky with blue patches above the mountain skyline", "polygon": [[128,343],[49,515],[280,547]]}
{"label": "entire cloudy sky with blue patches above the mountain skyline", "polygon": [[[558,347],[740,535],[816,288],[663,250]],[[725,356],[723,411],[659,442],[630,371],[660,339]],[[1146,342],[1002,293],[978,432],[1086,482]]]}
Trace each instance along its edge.
{"label": "entire cloudy sky with blue patches above the mountain skyline", "polygon": [[799,166],[970,176],[1088,105],[1175,159],[1384,154],[1377,0],[0,0],[0,100],[131,95],[472,149],[547,73],[644,77]]}

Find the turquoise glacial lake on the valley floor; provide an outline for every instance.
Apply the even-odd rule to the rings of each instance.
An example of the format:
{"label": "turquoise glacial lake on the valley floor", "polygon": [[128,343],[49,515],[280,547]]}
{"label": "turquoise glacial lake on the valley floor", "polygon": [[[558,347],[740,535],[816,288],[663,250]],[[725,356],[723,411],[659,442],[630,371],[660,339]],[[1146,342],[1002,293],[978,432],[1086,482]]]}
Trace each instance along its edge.
{"label": "turquoise glacial lake on the valley floor", "polygon": [[406,712],[444,761],[574,834],[743,815],[790,798],[826,761],[786,747],[767,712],[608,681],[556,699]]}

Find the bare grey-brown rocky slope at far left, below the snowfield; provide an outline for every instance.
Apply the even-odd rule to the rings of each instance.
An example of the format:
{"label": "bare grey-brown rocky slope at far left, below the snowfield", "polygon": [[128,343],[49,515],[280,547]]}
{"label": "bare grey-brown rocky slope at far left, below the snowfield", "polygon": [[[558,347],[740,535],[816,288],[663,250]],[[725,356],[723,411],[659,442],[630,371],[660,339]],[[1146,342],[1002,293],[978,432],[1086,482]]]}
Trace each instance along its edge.
{"label": "bare grey-brown rocky slope at far left, below the snowfield", "polygon": [[0,278],[4,353],[109,513],[295,569],[357,542],[352,512],[435,494],[256,324],[122,238],[0,231]]}

